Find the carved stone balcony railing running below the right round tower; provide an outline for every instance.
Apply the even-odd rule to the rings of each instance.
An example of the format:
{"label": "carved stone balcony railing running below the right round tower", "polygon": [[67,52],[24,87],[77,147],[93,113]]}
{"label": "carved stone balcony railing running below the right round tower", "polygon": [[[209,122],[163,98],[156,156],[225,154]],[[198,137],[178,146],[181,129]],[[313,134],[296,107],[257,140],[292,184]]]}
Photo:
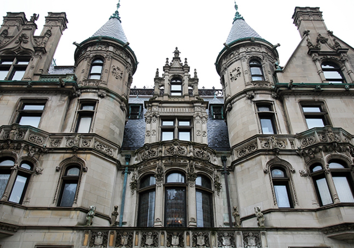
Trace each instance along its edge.
{"label": "carved stone balcony railing running below the right round tower", "polygon": [[326,143],[349,143],[353,144],[352,135],[342,128],[332,128],[330,126],[322,128],[312,128],[296,135],[255,135],[253,138],[246,140],[233,147],[234,159],[249,155],[256,151],[274,150],[296,150],[301,152],[302,149],[315,144]]}

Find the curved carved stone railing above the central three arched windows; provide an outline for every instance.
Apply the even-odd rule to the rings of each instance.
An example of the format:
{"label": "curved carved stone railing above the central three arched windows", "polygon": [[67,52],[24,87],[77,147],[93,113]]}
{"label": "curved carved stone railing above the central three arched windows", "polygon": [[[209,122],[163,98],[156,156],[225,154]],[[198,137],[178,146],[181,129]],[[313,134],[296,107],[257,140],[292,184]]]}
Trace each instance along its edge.
{"label": "curved carved stone railing above the central three arched windows", "polygon": [[137,163],[162,156],[193,157],[210,163],[216,162],[215,150],[209,148],[208,145],[177,139],[145,144],[136,150],[136,153]]}

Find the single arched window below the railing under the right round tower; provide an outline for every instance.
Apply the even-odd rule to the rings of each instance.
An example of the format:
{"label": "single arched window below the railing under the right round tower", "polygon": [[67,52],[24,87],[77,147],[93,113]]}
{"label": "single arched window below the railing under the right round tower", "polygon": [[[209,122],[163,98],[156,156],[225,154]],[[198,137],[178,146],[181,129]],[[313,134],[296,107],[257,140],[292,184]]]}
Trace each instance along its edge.
{"label": "single arched window below the railing under the right round tower", "polygon": [[287,176],[286,170],[282,167],[273,167],[271,169],[271,175],[278,207],[292,208],[289,177]]}

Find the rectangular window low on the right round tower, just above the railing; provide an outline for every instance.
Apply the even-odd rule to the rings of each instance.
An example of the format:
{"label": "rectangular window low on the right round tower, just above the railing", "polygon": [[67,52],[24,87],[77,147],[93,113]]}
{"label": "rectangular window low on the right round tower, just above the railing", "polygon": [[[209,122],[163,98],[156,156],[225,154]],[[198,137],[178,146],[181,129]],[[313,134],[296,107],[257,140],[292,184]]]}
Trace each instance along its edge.
{"label": "rectangular window low on the right round tower, just above the railing", "polygon": [[257,114],[263,134],[275,134],[274,111],[271,104],[257,104]]}

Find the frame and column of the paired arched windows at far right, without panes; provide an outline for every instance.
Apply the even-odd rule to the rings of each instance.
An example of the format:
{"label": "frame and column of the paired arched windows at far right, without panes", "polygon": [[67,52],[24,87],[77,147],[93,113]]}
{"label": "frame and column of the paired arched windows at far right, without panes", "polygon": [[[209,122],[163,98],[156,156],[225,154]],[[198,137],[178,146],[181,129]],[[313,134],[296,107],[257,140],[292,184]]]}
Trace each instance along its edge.
{"label": "frame and column of the paired arched windows at far right, without panes", "polygon": [[[344,165],[344,168],[330,168],[330,164],[332,162],[342,162]],[[312,172],[312,169],[314,168],[315,165],[321,165],[322,169],[319,171],[315,171]],[[352,191],[352,196],[354,198],[354,173],[352,171],[352,161],[350,160],[350,158],[348,158],[345,155],[342,154],[331,154],[329,156],[326,157],[326,161],[312,161],[312,163],[309,163],[309,165],[307,166],[308,171],[309,171],[309,177],[312,178],[312,182],[315,188],[315,193],[316,193],[316,197],[319,200],[319,205],[322,206],[328,206],[330,204],[336,204],[336,203],[340,203],[340,198],[338,196],[338,191],[337,188],[335,186],[335,183],[333,181],[333,174],[334,175],[341,175],[347,178],[348,180],[348,184],[349,184],[349,188]],[[316,184],[315,184],[315,179],[320,179],[320,178],[325,178],[326,179],[326,183],[327,183],[327,187],[329,189],[329,193],[331,195],[332,198],[332,203],[328,203],[326,205],[322,204],[322,199],[321,199],[321,195],[318,192],[318,189],[316,188]],[[353,202],[344,202],[344,203],[354,203]]]}

